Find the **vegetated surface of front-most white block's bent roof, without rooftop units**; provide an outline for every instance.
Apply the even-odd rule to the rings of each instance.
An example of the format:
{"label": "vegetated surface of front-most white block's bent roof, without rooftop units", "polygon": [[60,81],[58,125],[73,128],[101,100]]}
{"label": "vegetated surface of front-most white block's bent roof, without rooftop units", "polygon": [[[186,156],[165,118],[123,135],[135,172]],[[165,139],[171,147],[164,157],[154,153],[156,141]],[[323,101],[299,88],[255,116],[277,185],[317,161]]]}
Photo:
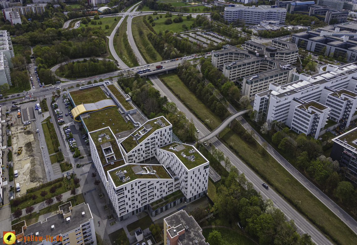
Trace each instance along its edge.
{"label": "vegetated surface of front-most white block's bent roof, without rooftop units", "polygon": [[[152,168],[152,170],[155,170],[156,172],[152,172],[152,174],[140,174],[140,173],[136,174],[132,168],[136,167],[138,165],[143,170],[144,170],[144,167],[147,167],[147,169]],[[126,170],[126,173],[124,174],[125,178],[129,176],[130,180],[127,180],[126,182],[122,182],[119,179],[119,177],[116,175],[116,172],[119,170],[121,170],[123,174],[124,174],[124,170]],[[167,171],[163,165],[125,164],[120,168],[110,171],[109,174],[110,174],[116,187],[119,187],[120,185],[122,185],[124,183],[131,182],[135,179],[171,179],[170,175],[167,173]]]}

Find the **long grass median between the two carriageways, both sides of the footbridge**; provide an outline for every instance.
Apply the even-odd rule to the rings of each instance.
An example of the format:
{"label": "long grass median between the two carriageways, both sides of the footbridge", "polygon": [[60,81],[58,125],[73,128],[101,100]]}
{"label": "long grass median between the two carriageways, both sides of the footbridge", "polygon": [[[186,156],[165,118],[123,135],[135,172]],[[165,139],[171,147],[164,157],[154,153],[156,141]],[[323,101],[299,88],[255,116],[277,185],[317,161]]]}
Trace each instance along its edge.
{"label": "long grass median between the two carriageways, both sides of the footbridge", "polygon": [[[171,73],[160,76],[160,78],[165,81],[171,91],[179,95],[178,98],[198,117],[210,118],[212,128],[221,123],[218,117],[209,116],[212,112],[188,90],[177,75]],[[337,244],[355,243],[353,241],[356,241],[357,235],[273,157],[261,154],[263,148],[259,144],[255,146],[247,144],[229,128],[222,131],[220,137],[235,151],[238,157],[270,184],[276,192],[283,195],[290,204],[293,204],[293,207],[308,218],[322,233],[329,235]]]}

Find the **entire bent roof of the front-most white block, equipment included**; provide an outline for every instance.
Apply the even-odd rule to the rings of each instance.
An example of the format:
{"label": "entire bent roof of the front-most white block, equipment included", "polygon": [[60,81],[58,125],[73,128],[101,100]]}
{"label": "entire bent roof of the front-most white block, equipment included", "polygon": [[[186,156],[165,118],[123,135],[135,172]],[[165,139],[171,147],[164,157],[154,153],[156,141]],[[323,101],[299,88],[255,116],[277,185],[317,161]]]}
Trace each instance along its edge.
{"label": "entire bent roof of the front-most white block, equipment included", "polygon": [[[149,172],[147,172],[147,170],[149,170]],[[121,171],[121,173],[119,173],[119,171]],[[162,165],[125,164],[118,169],[110,171],[109,174],[116,187],[135,179],[171,179]],[[120,178],[124,178],[125,181],[123,182]]]}

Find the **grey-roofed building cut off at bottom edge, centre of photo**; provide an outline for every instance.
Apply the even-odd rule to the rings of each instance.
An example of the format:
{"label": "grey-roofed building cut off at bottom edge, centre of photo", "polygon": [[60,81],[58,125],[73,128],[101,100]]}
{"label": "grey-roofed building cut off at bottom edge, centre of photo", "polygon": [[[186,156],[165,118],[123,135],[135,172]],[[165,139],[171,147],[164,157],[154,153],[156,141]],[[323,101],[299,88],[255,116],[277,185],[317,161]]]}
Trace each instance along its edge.
{"label": "grey-roofed building cut off at bottom edge, centre of photo", "polygon": [[176,244],[208,245],[201,227],[183,210],[164,219],[164,245]]}

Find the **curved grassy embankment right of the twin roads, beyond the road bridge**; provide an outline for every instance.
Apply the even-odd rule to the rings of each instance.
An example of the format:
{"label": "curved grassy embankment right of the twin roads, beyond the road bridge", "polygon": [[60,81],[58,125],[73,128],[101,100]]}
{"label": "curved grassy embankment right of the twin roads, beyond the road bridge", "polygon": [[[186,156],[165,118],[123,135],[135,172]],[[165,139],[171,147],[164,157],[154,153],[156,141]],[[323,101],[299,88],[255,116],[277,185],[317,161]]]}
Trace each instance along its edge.
{"label": "curved grassy embankment right of the twin roads, beyond the road bridge", "polygon": [[[147,39],[147,34],[150,33],[149,28],[142,21],[142,16],[135,17],[131,23],[131,31],[135,40],[135,44],[139,49],[142,57],[146,63],[153,63],[156,61],[161,61],[162,57],[151,45],[150,41]],[[145,16],[146,18],[146,16]],[[142,31],[142,33],[141,33]],[[141,35],[140,35],[141,33]]]}

